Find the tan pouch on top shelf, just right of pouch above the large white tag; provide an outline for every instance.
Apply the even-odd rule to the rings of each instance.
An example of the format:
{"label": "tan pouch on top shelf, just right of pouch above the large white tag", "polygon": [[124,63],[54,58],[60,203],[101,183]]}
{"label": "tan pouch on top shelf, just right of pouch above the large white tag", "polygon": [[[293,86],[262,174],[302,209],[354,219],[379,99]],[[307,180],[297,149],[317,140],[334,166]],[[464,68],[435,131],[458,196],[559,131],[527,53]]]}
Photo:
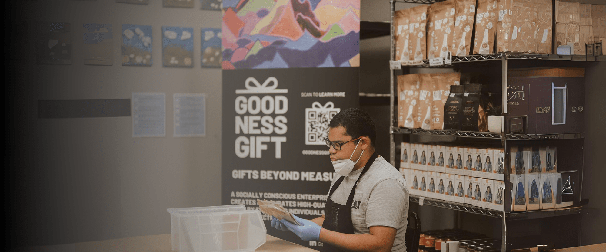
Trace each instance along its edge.
{"label": "tan pouch on top shelf, just right of pouch above the large white tag", "polygon": [[476,0],[455,0],[454,15],[453,41],[450,50],[453,56],[470,55]]}

